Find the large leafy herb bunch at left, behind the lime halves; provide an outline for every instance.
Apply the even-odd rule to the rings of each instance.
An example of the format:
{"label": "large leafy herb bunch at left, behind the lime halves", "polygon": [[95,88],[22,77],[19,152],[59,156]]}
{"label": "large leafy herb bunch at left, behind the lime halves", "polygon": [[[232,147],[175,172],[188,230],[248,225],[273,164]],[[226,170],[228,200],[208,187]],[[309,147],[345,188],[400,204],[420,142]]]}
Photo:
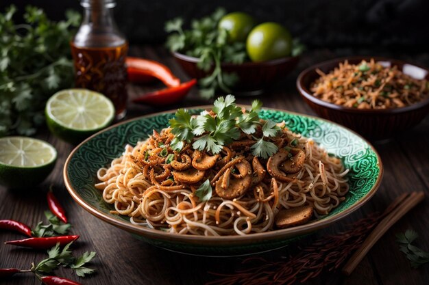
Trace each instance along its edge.
{"label": "large leafy herb bunch at left, behind the lime halves", "polygon": [[56,23],[28,6],[25,23],[16,25],[15,13],[11,5],[0,14],[0,137],[34,134],[49,96],[73,85],[69,42],[79,14],[67,12]]}

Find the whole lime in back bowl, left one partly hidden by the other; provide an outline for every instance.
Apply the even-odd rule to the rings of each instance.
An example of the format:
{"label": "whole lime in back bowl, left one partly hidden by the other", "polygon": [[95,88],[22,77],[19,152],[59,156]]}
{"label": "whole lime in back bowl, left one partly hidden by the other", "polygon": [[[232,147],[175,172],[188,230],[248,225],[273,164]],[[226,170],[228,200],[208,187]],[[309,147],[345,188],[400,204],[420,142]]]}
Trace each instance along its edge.
{"label": "whole lime in back bowl, left one partly hidden by the other", "polygon": [[255,19],[243,12],[226,14],[219,21],[219,29],[228,31],[228,42],[245,42],[249,31],[255,26]]}

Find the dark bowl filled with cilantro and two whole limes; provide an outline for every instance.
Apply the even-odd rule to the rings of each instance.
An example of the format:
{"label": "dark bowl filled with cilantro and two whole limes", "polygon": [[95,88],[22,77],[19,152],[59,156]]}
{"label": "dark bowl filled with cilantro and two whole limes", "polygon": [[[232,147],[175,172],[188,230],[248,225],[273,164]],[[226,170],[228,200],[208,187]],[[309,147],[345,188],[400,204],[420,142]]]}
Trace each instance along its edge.
{"label": "dark bowl filled with cilantro and two whole limes", "polygon": [[[299,40],[278,23],[262,23],[244,12],[223,8],[193,19],[185,29],[182,18],[168,21],[167,47],[182,68],[199,79],[200,94],[260,94],[291,71],[304,50]],[[261,40],[262,39],[262,40]]]}

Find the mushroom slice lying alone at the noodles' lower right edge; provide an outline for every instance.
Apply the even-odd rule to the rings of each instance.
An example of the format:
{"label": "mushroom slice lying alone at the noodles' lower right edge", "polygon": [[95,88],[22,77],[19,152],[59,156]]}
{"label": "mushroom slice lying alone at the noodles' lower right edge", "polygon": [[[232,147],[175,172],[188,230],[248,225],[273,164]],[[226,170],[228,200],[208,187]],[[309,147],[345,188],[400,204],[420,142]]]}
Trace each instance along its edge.
{"label": "mushroom slice lying alone at the noodles' lower right edge", "polygon": [[312,217],[311,206],[300,206],[281,210],[275,216],[275,226],[278,228],[291,228],[307,223]]}

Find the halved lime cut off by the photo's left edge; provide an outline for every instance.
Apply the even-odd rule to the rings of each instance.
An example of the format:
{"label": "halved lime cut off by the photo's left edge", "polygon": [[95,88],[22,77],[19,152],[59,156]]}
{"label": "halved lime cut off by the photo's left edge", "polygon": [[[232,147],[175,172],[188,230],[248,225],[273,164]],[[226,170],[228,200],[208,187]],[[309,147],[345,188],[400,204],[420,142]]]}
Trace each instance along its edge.
{"label": "halved lime cut off by the photo's left edge", "polygon": [[57,151],[40,139],[0,138],[0,184],[10,188],[34,187],[55,166]]}

